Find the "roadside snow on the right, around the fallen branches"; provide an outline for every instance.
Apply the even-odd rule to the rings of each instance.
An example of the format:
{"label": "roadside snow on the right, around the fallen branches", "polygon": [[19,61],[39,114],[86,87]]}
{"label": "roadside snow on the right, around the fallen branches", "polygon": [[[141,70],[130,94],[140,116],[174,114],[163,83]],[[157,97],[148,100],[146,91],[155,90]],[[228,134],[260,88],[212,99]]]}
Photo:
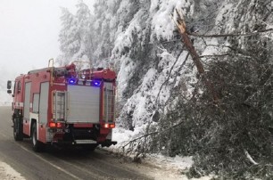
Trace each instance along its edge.
{"label": "roadside snow on the right, around the fallen branches", "polygon": [[[129,131],[120,127],[114,128],[112,141],[117,141],[118,144],[105,148],[105,150],[114,152],[122,151],[121,147],[133,139],[133,137],[136,137],[141,131],[140,129],[141,127],[135,129],[135,131]],[[144,169],[145,174],[158,180],[187,180],[188,178],[185,173],[191,168],[193,163],[192,157],[166,157],[161,154],[149,154],[145,160],[142,160],[142,164],[149,167],[148,169]],[[212,176],[203,176],[199,180],[209,180],[211,178]]]}

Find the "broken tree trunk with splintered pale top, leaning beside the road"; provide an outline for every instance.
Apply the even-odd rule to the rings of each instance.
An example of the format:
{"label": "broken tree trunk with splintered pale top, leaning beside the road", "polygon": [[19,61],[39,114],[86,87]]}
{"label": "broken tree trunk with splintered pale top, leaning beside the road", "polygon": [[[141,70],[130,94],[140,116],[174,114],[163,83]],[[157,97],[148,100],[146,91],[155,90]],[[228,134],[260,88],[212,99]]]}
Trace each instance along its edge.
{"label": "broken tree trunk with splintered pale top, leaning beside the road", "polygon": [[186,46],[188,53],[190,53],[190,55],[192,56],[192,59],[197,68],[197,71],[201,75],[201,78],[203,78],[205,86],[207,86],[208,90],[211,92],[213,102],[217,103],[219,100],[218,95],[214,89],[214,86],[211,83],[211,80],[207,77],[205,70],[203,69],[201,58],[196,52],[194,45],[186,32],[186,22],[183,18],[183,15],[179,13],[177,9],[176,9],[176,12],[178,17],[177,17],[177,20],[174,20],[174,21],[175,21],[175,24],[177,25],[179,35],[180,37],[182,37],[182,41],[184,45]]}

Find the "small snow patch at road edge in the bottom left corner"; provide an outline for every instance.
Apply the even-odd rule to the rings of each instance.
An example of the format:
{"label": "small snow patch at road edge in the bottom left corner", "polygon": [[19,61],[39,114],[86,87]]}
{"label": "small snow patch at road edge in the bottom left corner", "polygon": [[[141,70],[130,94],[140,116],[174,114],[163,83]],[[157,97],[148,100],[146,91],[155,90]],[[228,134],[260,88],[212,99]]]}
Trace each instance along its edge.
{"label": "small snow patch at road edge in the bottom left corner", "polygon": [[8,164],[0,161],[0,179],[2,180],[25,180],[20,173],[15,171],[12,167]]}

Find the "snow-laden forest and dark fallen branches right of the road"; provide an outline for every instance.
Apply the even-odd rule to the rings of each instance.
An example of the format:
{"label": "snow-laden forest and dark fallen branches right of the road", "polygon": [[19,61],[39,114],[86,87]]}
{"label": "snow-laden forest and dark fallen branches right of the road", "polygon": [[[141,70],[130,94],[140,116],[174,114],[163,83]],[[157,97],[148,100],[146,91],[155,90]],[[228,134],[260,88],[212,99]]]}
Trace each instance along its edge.
{"label": "snow-laden forest and dark fallen branches right of the road", "polygon": [[139,131],[128,151],[193,156],[189,177],[272,178],[270,0],[97,0],[94,8],[82,1],[75,14],[62,8],[58,63],[117,71],[117,124]]}

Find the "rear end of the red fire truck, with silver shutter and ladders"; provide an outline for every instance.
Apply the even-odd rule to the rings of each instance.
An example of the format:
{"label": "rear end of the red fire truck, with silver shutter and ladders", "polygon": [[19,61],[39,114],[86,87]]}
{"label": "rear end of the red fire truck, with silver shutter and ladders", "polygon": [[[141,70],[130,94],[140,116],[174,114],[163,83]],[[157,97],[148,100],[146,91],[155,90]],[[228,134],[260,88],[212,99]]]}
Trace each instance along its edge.
{"label": "rear end of the red fire truck, with silver shutter and ladders", "polygon": [[[61,72],[61,73],[60,73]],[[94,150],[110,146],[115,127],[116,75],[112,70],[81,70],[71,64],[55,69],[52,86],[52,119],[47,142],[74,144]],[[58,74],[61,74],[61,76]],[[64,79],[62,79],[64,78]],[[66,89],[62,90],[65,82]]]}

